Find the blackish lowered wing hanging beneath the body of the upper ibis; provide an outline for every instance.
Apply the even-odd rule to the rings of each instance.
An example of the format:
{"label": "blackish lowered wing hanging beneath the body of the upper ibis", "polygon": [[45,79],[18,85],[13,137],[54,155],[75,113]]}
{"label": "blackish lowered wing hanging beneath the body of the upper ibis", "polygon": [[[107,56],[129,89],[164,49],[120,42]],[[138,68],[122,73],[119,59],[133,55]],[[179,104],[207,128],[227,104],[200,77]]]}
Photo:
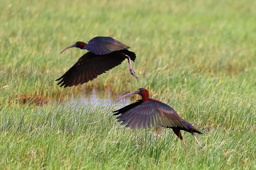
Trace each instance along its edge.
{"label": "blackish lowered wing hanging beneath the body of the upper ibis", "polygon": [[57,84],[60,86],[71,87],[87,83],[102,73],[116,67],[124,61],[125,57],[115,53],[107,55],[95,55],[91,51],[85,53],[75,65],[73,65],[63,76],[55,81],[60,80]]}

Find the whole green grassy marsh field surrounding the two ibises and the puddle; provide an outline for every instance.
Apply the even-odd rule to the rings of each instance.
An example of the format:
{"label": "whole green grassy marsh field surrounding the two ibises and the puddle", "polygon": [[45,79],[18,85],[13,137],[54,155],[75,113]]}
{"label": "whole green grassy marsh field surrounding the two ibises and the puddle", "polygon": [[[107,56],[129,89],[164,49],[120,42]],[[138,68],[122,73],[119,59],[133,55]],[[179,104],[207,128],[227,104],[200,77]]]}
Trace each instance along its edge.
{"label": "whole green grassy marsh field surrounding the two ibises and the puddle", "polygon": [[[3,1],[1,169],[255,169],[255,9],[255,1],[231,0]],[[130,46],[139,80],[124,61],[84,85],[57,86],[86,52],[60,51],[95,36]],[[203,131],[206,151],[188,133],[190,152],[171,129],[156,138],[120,126],[115,105],[62,102],[85,89],[116,100],[141,87]]]}

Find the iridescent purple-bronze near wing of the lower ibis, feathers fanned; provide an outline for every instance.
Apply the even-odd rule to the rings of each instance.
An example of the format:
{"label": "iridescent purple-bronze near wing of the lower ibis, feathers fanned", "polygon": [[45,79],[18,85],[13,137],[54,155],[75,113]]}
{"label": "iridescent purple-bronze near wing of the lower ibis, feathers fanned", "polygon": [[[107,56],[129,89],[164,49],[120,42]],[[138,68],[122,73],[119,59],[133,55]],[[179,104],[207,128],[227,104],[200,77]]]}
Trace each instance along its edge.
{"label": "iridescent purple-bronze near wing of the lower ibis, feathers fanned", "polygon": [[116,119],[119,119],[117,122],[123,121],[121,125],[127,124],[126,127],[131,127],[131,129],[153,128],[159,126],[187,129],[180,116],[172,107],[152,100],[143,102],[140,105],[131,108],[116,117]]}

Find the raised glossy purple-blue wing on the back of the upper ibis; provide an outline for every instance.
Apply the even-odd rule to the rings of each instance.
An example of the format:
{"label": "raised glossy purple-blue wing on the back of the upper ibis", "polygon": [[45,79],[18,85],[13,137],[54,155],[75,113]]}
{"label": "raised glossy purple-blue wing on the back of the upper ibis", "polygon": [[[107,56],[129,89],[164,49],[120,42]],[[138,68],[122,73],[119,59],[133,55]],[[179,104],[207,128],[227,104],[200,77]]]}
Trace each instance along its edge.
{"label": "raised glossy purple-blue wing on the back of the upper ibis", "polygon": [[94,54],[103,55],[128,48],[130,47],[111,37],[94,37],[83,49],[87,49]]}

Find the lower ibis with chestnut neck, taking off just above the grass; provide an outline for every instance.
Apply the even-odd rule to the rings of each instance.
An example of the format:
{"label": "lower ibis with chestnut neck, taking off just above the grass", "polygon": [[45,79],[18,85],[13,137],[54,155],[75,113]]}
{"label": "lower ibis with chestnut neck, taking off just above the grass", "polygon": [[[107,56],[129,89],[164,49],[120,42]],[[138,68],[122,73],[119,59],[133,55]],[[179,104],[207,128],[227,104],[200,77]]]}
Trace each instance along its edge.
{"label": "lower ibis with chestnut neck, taking off just above the grass", "polygon": [[173,132],[188,148],[180,133],[180,130],[184,130],[191,133],[196,139],[196,142],[199,144],[200,148],[205,150],[194,134],[194,132],[198,134],[203,133],[192,126],[189,122],[182,119],[169,105],[158,100],[150,99],[147,89],[140,88],[134,92],[127,93],[120,97],[117,101],[133,94],[139,94],[142,99],[136,100],[135,103],[113,111],[113,113],[115,113],[114,115],[119,115],[116,117],[116,119],[118,119],[117,122],[122,122],[121,125],[127,124],[126,127],[130,127],[131,129],[153,128],[161,126],[165,128],[172,128]]}

